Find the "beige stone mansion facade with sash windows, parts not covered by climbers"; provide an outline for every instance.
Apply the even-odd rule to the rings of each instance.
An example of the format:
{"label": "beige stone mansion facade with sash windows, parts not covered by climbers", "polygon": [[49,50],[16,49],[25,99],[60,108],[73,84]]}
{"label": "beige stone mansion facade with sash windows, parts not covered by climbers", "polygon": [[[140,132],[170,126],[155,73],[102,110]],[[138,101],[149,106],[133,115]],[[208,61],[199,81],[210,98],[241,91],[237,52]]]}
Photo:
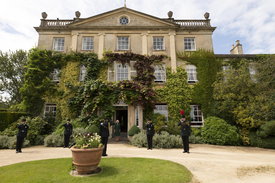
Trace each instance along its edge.
{"label": "beige stone mansion facade with sash windows, parts not covered by climbers", "polygon": [[[172,18],[172,12],[168,12],[168,18],[158,18],[141,13],[126,7],[101,13],[88,18],[79,18],[80,13],[70,20],[48,20],[47,14],[42,13],[43,19],[39,27],[34,27],[39,34],[38,48],[52,49],[61,52],[72,50],[94,51],[99,59],[105,49],[113,53],[131,51],[142,55],[164,54],[170,59],[163,59],[161,64],[154,64],[156,87],[165,85],[165,67],[182,66],[188,74],[188,83],[197,82],[197,71],[194,65],[182,65],[177,61],[176,51],[195,51],[198,49],[213,50],[212,33],[216,27],[210,25],[209,13],[205,13],[202,20],[176,20]],[[241,45],[232,47],[234,55],[216,55],[217,57],[245,57]],[[241,54],[241,55],[240,55]],[[114,62],[109,66],[108,81],[120,81],[130,79],[135,75],[133,63],[121,67],[121,63]],[[113,72],[114,71],[114,72]],[[79,81],[85,76],[85,65],[80,65]],[[51,80],[58,82],[58,68],[51,74]],[[83,105],[79,106],[81,113]],[[127,123],[125,129],[137,125],[143,128],[142,108],[117,101],[116,112],[113,119],[122,119]],[[168,118],[167,104],[156,104],[155,113],[161,113]],[[56,105],[46,103],[44,114],[56,111]],[[192,126],[203,125],[203,114],[199,105],[191,105]]]}

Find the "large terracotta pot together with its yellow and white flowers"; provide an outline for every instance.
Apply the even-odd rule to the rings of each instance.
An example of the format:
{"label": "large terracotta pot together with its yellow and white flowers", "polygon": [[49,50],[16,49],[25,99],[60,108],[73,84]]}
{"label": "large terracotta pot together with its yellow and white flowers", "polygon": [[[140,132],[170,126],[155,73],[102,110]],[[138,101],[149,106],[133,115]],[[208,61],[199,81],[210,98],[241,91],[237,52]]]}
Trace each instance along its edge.
{"label": "large terracotta pot together with its yellow and white flowers", "polygon": [[79,174],[89,174],[100,163],[104,146],[97,133],[84,133],[75,136],[72,151],[72,162]]}

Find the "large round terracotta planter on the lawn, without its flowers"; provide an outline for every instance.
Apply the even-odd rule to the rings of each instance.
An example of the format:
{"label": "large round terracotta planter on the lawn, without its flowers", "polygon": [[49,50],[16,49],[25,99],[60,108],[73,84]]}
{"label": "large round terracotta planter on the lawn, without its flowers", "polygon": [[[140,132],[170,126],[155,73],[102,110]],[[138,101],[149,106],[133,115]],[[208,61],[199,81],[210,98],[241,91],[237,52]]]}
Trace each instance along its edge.
{"label": "large round terracotta planter on the lawn, without its flowers", "polygon": [[93,149],[74,149],[72,151],[72,162],[79,174],[89,174],[95,170],[100,163],[104,146]]}

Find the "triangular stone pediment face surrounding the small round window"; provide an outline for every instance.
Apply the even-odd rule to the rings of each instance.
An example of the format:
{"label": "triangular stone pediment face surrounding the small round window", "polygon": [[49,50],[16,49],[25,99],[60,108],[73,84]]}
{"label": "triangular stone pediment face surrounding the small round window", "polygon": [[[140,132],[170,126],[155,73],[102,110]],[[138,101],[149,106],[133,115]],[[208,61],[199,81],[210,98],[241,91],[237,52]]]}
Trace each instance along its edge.
{"label": "triangular stone pediment face surrounding the small round window", "polygon": [[[126,25],[121,25],[119,19],[121,17],[126,17],[129,20],[129,23]],[[147,15],[129,8],[119,8],[106,13],[95,15],[93,17],[81,19],[79,21],[67,24],[68,27],[93,27],[93,26],[110,26],[110,27],[124,27],[124,26],[154,26],[154,27],[178,27],[179,24]]]}

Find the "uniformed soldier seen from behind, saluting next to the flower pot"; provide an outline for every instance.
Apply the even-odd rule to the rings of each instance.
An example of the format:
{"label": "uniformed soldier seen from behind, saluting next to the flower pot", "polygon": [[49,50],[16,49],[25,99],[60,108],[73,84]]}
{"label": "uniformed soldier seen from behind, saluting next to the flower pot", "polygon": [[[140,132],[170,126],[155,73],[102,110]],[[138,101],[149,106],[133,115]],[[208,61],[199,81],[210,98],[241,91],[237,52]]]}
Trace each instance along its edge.
{"label": "uniformed soldier seen from behind, saluting next to the flower pot", "polygon": [[[104,122],[99,125],[99,136],[101,136],[101,143],[104,146],[102,156],[108,156],[108,154],[106,154],[106,151],[107,151],[108,138],[110,136],[109,130],[110,130],[110,126],[115,125],[115,123],[107,117],[103,119],[104,119]],[[109,122],[107,122],[107,119]]]}

